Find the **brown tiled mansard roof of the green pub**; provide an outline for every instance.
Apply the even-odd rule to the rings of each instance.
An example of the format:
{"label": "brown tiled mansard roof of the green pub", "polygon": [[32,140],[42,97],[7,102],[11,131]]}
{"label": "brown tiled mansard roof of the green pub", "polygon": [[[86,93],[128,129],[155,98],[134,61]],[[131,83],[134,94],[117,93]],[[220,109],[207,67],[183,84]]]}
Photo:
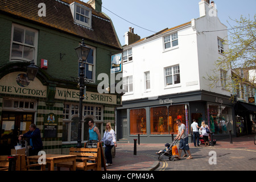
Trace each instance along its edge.
{"label": "brown tiled mansard roof of the green pub", "polygon": [[[92,9],[92,28],[85,28],[74,23],[69,7],[69,4],[74,1]],[[38,15],[38,11],[41,9],[38,5],[41,2],[46,5],[46,16],[42,17]],[[92,6],[79,0],[5,0],[0,1],[0,12],[68,32],[85,40],[122,49],[111,20],[104,14],[95,11]]]}

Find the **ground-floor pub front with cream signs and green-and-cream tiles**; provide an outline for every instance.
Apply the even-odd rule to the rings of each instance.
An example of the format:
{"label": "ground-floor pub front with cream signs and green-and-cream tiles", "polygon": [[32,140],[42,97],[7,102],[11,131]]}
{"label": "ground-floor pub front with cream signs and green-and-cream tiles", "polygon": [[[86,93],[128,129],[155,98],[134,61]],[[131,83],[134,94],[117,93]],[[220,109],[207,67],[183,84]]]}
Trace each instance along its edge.
{"label": "ground-floor pub front with cream signs and green-and-cream tiles", "polygon": [[[0,155],[10,155],[31,123],[40,129],[43,150],[49,154],[68,154],[76,146],[79,122],[79,90],[75,82],[58,82],[38,72],[34,81],[27,73],[14,71],[0,80]],[[88,140],[88,121],[93,120],[103,137],[105,123],[115,125],[115,94],[99,94],[88,86],[82,104],[82,143]],[[118,102],[119,101],[119,102]]]}

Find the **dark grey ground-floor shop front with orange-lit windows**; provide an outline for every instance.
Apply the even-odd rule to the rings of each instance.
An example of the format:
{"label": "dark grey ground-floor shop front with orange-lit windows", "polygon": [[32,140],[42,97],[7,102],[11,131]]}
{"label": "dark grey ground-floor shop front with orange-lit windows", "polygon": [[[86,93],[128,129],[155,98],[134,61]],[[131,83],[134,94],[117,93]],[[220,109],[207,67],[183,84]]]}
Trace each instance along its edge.
{"label": "dark grey ground-floor shop front with orange-lit windows", "polygon": [[186,126],[191,142],[191,123],[196,119],[210,127],[214,135],[232,134],[234,129],[234,113],[232,103],[228,97],[211,94],[209,92],[191,92],[176,94],[175,96],[159,97],[157,100],[139,100],[123,102],[117,108],[118,138],[126,138],[129,142],[138,138],[141,142],[171,142],[178,128],[176,121]]}

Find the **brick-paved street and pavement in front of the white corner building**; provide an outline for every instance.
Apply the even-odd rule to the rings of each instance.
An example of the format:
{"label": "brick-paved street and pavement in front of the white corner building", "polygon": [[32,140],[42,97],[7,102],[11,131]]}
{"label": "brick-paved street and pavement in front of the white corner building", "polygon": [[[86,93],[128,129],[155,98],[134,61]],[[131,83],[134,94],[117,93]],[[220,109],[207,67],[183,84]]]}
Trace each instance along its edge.
{"label": "brick-paved street and pavement in front of the white corner building", "polygon": [[[229,139],[217,140],[214,147],[194,147],[189,143],[193,159],[170,161],[164,156],[160,162],[155,152],[162,150],[164,143],[137,144],[137,155],[133,155],[134,144],[118,144],[113,166],[108,167],[108,171],[255,171],[256,145],[253,139],[254,135],[248,135],[233,138],[233,143]],[[209,155],[209,152],[214,155]]]}

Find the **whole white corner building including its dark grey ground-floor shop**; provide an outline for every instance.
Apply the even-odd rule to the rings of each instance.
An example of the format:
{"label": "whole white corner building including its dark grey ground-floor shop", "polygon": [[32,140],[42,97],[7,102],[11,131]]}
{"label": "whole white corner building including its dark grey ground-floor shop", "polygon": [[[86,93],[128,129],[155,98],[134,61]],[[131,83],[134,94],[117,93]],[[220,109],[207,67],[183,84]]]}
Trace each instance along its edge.
{"label": "whole white corner building including its dark grey ground-floor shop", "polygon": [[[123,46],[123,107],[117,109],[118,138],[170,142],[181,119],[191,133],[192,119],[208,122],[216,134],[234,132],[230,93],[225,79],[211,88],[208,75],[228,49],[227,27],[214,3],[199,2],[200,17],[140,39],[130,28]],[[231,72],[220,71],[225,78]],[[225,122],[221,122],[225,118]],[[214,124],[215,123],[215,124]]]}

